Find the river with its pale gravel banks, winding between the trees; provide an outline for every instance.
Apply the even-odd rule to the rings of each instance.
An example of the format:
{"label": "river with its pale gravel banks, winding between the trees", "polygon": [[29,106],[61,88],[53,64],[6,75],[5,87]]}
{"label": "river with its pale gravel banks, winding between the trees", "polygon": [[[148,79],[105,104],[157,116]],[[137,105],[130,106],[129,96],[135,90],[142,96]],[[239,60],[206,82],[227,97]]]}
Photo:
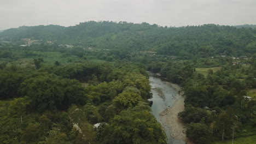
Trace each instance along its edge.
{"label": "river with its pale gravel banks, winding between the trees", "polygon": [[[164,81],[164,79],[160,79],[160,77],[158,76],[150,74],[149,81],[153,93],[153,98],[150,99],[153,101],[153,105],[151,107],[152,113],[157,121],[160,122],[162,127],[164,128],[167,136],[167,143],[185,144],[185,136],[184,133],[182,133],[183,124],[180,124],[180,122],[175,123],[176,121],[178,121],[176,120],[177,113],[183,110],[177,109],[177,106],[173,107],[174,104],[177,105],[177,101],[181,99],[182,96],[178,93],[177,89],[172,87],[170,82]],[[181,104],[179,104],[179,106],[182,106],[183,100],[184,99],[182,99],[182,101],[180,100]],[[174,112],[175,114],[173,114],[172,108],[176,108],[176,113]],[[174,136],[173,133],[176,133],[175,135],[177,136]]]}

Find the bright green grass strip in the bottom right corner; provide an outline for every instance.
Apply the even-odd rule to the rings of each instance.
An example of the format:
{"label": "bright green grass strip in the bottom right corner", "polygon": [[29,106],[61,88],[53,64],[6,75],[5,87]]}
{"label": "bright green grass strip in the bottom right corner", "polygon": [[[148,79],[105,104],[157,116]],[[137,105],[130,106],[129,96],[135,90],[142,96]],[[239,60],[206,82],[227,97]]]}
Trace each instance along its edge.
{"label": "bright green grass strip in the bottom right corner", "polygon": [[[234,139],[234,144],[254,144],[256,143],[256,135],[241,137]],[[212,144],[232,144],[232,140],[217,141]]]}

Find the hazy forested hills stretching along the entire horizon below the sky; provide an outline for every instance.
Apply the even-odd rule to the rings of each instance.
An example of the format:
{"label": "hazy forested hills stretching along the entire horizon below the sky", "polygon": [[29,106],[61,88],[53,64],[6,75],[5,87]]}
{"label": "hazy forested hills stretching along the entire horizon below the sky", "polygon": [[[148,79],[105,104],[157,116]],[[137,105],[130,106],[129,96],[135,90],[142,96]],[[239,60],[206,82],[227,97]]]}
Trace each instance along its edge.
{"label": "hazy forested hills stretching along the entire horizon below the sky", "polygon": [[154,51],[160,55],[186,59],[194,56],[243,56],[255,53],[256,29],[237,27],[209,24],[167,28],[148,23],[90,21],[71,27],[22,26],[5,30],[0,37],[4,41],[31,38],[98,49]]}

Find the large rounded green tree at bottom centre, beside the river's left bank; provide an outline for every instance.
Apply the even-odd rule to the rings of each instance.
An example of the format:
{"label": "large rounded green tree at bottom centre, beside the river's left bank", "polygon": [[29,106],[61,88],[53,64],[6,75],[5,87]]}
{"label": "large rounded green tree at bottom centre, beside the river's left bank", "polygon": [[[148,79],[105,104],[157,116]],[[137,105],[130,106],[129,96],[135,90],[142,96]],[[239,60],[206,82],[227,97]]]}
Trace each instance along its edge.
{"label": "large rounded green tree at bottom centre, beside the river's left bank", "polygon": [[148,104],[121,111],[106,125],[103,143],[166,143],[160,123],[149,112]]}

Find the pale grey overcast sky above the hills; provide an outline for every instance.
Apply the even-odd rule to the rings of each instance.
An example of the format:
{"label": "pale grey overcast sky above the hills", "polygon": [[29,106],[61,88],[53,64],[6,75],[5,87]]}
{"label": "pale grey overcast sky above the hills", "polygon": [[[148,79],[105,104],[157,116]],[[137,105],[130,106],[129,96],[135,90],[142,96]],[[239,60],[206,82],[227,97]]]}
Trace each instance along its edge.
{"label": "pale grey overcast sky above the hills", "polygon": [[256,0],[0,0],[0,30],[91,20],[160,26],[256,24]]}

